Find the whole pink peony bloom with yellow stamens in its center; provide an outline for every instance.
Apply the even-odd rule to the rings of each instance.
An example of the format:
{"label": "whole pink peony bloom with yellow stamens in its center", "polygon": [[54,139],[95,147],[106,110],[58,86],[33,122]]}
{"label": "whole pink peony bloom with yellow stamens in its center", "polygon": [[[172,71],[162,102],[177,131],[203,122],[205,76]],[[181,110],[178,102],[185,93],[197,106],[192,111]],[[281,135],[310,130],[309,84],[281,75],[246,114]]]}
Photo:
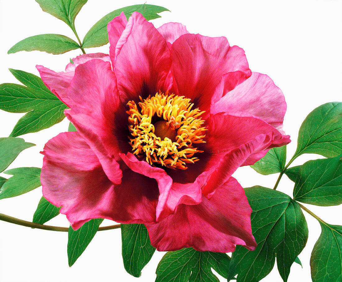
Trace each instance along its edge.
{"label": "whole pink peony bloom with yellow stamens in its center", "polygon": [[254,250],[232,174],[290,142],[280,89],[225,37],[156,29],[137,12],[114,18],[108,36],[109,55],[78,56],[65,72],[37,66],[77,129],[44,147],[44,197],[74,229],[143,223],[159,251]]}

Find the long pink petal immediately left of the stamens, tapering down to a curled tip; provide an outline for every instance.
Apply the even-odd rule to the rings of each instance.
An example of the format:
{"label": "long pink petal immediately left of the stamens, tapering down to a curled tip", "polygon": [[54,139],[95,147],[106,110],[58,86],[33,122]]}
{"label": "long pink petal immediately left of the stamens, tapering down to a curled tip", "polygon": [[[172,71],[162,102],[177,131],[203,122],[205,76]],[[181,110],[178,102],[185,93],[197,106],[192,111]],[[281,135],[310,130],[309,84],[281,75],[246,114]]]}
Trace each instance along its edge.
{"label": "long pink petal immediately left of the stamens, tapering down to a curled tip", "polygon": [[129,144],[126,133],[120,128],[124,109],[110,63],[94,59],[79,65],[67,95],[74,106],[65,110],[65,115],[95,152],[112,180],[112,165],[116,163],[115,159],[121,161],[120,149]]}

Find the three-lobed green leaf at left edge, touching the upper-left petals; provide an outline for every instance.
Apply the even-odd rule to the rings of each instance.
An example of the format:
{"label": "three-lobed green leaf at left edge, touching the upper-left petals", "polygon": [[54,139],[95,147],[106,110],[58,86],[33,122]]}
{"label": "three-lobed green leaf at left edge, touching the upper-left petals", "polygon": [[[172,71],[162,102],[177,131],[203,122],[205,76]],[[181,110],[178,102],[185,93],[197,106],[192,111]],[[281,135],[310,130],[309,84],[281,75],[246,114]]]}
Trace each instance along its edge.
{"label": "three-lobed green leaf at left edge, touching the upper-left petals", "polygon": [[40,77],[22,70],[10,71],[27,87],[13,83],[1,84],[0,109],[17,113],[28,111],[19,119],[10,136],[37,132],[65,118],[66,105],[44,85]]}

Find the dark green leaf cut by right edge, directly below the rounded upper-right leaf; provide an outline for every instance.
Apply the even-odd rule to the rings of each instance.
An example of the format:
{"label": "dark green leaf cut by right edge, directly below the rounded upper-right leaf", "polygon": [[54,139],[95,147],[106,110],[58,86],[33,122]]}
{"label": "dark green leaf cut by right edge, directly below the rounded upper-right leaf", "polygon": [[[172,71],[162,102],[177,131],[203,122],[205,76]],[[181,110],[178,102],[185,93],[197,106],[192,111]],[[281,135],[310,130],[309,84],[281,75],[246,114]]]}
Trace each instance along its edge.
{"label": "dark green leaf cut by right edge, directly below the rounded upper-right leaf", "polygon": [[342,155],[304,163],[298,172],[293,198],[318,206],[342,204]]}

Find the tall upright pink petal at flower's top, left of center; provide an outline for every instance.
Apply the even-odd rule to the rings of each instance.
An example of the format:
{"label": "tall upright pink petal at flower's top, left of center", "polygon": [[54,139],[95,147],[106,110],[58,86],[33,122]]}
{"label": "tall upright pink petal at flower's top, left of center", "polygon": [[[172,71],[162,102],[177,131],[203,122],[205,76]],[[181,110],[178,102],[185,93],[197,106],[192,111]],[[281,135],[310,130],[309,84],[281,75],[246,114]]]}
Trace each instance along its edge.
{"label": "tall upright pink petal at flower's top, left of center", "polygon": [[140,13],[134,12],[129,18],[116,44],[114,57],[112,52],[110,57],[123,104],[139,100],[139,95],[146,98],[159,90],[167,90],[165,80],[171,66],[170,49],[153,24]]}

